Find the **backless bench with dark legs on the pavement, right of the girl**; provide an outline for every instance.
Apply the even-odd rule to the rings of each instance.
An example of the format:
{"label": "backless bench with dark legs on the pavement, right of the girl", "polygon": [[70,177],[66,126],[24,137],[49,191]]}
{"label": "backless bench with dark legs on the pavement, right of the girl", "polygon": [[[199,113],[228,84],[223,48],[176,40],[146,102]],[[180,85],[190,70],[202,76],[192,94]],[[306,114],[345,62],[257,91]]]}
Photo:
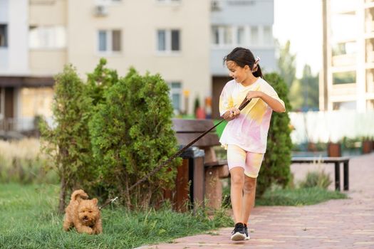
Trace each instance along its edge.
{"label": "backless bench with dark legs on the pavement, right of the girl", "polygon": [[335,164],[335,190],[341,191],[341,167],[343,164],[343,189],[349,190],[349,157],[293,157],[293,164]]}

